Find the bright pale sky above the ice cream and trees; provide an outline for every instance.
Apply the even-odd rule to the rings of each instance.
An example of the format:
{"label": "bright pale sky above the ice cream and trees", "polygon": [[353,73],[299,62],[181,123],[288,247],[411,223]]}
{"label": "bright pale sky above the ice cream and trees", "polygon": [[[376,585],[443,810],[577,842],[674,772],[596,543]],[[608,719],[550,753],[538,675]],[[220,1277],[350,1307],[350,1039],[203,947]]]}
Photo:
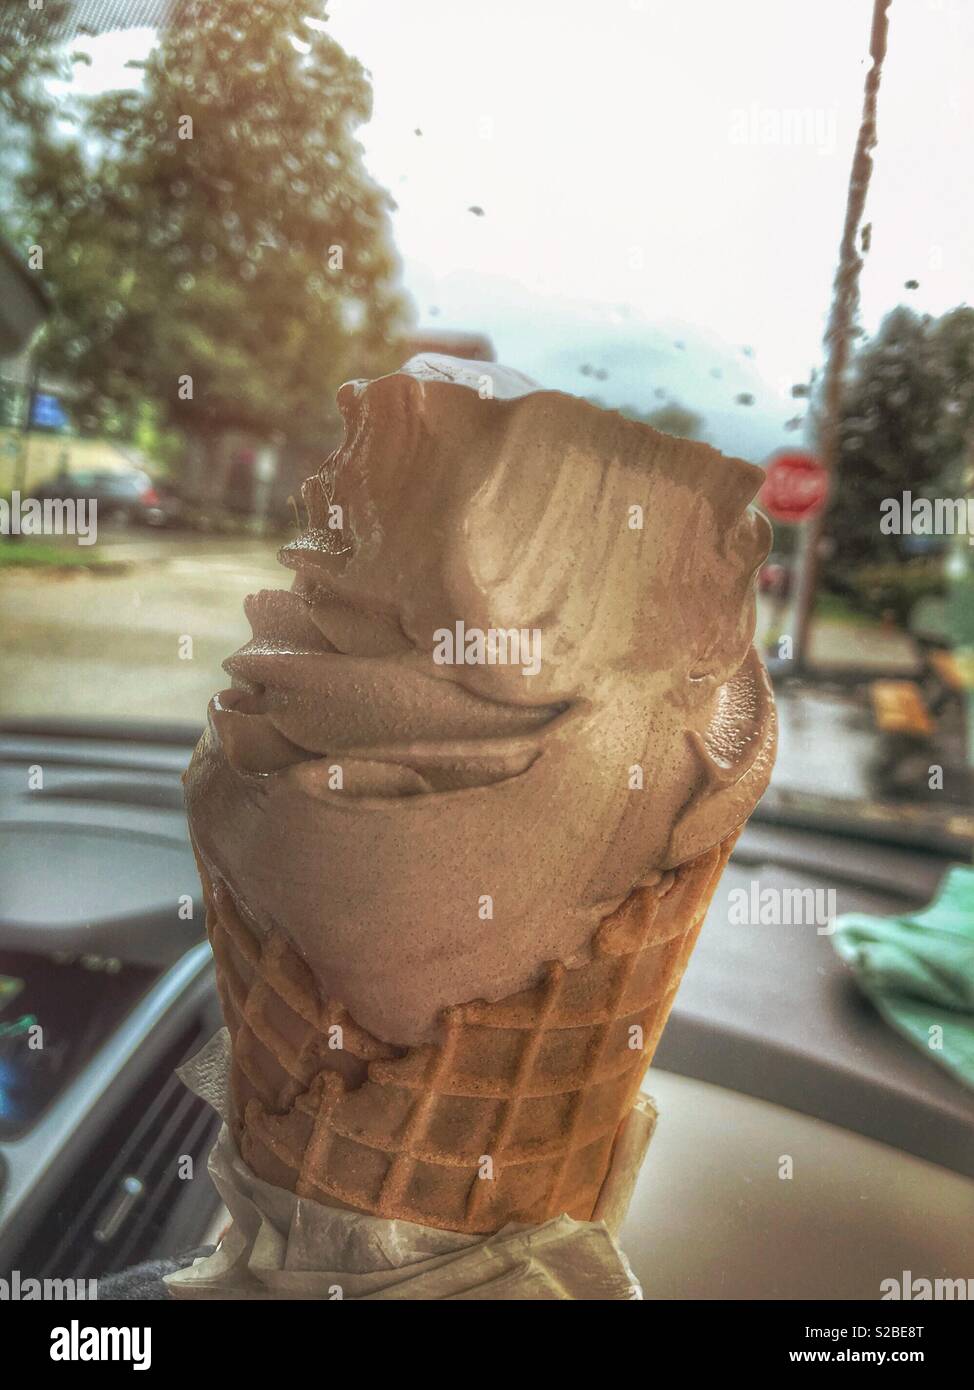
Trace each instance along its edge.
{"label": "bright pale sky above the ice cream and trees", "polygon": [[[746,457],[795,443],[784,423],[823,360],[871,8],[331,0],[329,31],[372,78],[360,139],[397,203],[421,327],[486,332],[502,361],[609,404],[678,399]],[[86,81],[114,85],[145,42],[97,40]],[[970,296],[973,57],[968,0],[893,0],[870,334],[896,303],[939,314]]]}

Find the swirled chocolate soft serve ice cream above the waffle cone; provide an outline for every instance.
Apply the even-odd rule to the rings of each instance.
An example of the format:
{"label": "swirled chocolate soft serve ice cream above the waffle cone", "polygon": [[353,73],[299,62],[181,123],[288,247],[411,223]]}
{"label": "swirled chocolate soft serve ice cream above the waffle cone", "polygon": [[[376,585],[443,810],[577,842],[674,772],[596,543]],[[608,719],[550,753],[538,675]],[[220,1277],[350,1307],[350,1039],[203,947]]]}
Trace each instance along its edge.
{"label": "swirled chocolate soft serve ice cream above the waffle cone", "polygon": [[489,363],[417,357],[339,403],[186,792],[254,937],[402,1048],[584,963],[746,820],[770,528],[759,468]]}

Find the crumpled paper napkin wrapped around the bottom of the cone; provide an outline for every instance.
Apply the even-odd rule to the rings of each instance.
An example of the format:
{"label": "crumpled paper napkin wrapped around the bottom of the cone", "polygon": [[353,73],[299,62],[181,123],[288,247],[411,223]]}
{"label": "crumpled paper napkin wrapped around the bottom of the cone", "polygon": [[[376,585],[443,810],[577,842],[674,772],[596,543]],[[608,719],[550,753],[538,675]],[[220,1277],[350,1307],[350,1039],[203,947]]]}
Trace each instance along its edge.
{"label": "crumpled paper napkin wrapped around the bottom of the cone", "polygon": [[622,1126],[592,1220],[557,1216],[468,1236],[325,1207],[254,1177],[226,1123],[226,1029],[179,1076],[224,1120],[210,1175],[231,1225],[213,1255],[167,1277],[175,1298],[642,1298],[616,1237],[656,1126],[647,1095]]}

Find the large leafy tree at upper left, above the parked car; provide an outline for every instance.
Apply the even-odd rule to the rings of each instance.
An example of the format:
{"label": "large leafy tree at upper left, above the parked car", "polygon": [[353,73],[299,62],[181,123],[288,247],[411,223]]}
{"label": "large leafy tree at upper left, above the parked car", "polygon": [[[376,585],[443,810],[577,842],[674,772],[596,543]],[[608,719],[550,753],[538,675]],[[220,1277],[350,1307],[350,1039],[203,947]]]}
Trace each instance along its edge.
{"label": "large leafy tree at upper left, above the parked car", "polygon": [[371,90],[314,10],[189,0],[139,90],[33,131],[42,366],[83,427],[131,434],[149,403],[204,450],[233,428],[321,448],[338,385],[395,364],[392,204],[354,139]]}

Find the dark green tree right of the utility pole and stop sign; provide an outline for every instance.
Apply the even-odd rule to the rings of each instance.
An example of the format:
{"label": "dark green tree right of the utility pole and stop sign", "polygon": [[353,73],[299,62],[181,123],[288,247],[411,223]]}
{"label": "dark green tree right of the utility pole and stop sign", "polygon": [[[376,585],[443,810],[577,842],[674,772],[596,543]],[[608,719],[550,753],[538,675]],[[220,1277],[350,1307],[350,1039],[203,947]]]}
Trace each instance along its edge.
{"label": "dark green tree right of the utility pole and stop sign", "polygon": [[974,428],[974,310],[942,318],[900,306],[852,366],[839,425],[841,467],[825,521],[829,577],[849,584],[866,563],[906,559],[880,531],[885,498],[946,495],[959,486]]}

